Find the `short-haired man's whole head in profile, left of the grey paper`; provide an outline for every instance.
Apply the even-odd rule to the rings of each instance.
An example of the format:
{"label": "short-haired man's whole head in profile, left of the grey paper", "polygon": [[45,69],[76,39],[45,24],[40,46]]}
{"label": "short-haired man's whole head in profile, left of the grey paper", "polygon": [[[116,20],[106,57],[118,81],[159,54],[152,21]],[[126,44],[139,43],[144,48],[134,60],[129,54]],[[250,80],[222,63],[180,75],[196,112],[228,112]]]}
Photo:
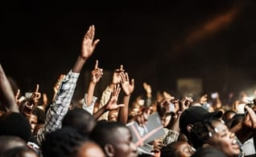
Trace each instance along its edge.
{"label": "short-haired man's whole head in profile, left of the grey paper", "polygon": [[101,146],[106,156],[137,156],[130,130],[123,123],[99,122],[90,138]]}

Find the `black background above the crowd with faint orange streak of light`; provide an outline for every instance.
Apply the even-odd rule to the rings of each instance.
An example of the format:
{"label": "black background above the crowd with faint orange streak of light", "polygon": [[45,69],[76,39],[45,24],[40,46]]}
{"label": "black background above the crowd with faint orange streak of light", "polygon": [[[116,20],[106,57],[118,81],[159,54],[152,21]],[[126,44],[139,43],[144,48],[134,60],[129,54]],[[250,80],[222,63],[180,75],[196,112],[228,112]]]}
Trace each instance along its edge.
{"label": "black background above the crowd with faint orange streak of light", "polygon": [[203,78],[205,92],[241,90],[256,80],[255,6],[254,0],[2,2],[0,62],[23,91],[39,83],[50,94],[93,24],[101,42],[83,71],[95,59],[104,70],[123,64],[135,78],[135,95],[144,81],[174,92],[176,78],[191,77]]}

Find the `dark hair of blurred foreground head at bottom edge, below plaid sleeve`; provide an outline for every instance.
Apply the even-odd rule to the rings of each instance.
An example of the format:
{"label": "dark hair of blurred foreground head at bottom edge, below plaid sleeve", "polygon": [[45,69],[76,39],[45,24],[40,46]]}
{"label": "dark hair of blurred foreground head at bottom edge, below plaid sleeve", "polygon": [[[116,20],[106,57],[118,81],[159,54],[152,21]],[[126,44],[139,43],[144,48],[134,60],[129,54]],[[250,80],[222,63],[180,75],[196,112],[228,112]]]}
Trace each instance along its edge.
{"label": "dark hair of blurred foreground head at bottom edge, below plaid sleeve", "polygon": [[43,156],[73,156],[89,139],[81,136],[74,128],[63,127],[45,136],[42,143]]}

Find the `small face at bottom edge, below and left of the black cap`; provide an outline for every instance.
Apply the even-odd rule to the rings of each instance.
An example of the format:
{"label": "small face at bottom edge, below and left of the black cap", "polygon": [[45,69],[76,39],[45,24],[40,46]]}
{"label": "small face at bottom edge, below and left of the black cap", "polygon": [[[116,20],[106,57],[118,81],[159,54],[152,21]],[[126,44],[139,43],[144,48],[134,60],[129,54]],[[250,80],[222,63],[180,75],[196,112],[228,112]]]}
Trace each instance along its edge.
{"label": "small face at bottom edge, below and left of the black cap", "polygon": [[180,157],[189,157],[195,153],[195,149],[192,148],[187,142],[181,142],[176,151]]}

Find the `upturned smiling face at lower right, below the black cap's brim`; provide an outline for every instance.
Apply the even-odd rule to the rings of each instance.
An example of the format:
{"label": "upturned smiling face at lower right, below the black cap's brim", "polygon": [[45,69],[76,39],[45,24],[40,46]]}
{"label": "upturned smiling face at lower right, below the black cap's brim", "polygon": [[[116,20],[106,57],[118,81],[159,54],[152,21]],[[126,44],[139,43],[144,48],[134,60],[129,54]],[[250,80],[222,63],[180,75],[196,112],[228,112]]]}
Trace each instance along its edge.
{"label": "upturned smiling face at lower right, below the black cap's brim", "polygon": [[240,147],[237,144],[235,135],[229,131],[224,123],[219,121],[213,122],[213,127],[217,129],[217,133],[209,138],[209,144],[223,151],[226,155],[239,155]]}

